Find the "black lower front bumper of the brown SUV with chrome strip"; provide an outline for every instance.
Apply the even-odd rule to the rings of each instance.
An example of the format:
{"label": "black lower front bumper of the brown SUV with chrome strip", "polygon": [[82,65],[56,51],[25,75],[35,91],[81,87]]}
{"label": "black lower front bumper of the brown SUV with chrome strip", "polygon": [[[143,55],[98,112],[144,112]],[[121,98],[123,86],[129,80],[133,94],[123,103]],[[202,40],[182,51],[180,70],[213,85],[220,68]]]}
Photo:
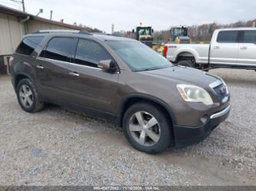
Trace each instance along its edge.
{"label": "black lower front bumper of the brown SUV with chrome strip", "polygon": [[224,110],[212,114],[208,121],[199,127],[174,126],[175,147],[186,147],[204,140],[228,117],[230,110],[231,105],[228,105]]}

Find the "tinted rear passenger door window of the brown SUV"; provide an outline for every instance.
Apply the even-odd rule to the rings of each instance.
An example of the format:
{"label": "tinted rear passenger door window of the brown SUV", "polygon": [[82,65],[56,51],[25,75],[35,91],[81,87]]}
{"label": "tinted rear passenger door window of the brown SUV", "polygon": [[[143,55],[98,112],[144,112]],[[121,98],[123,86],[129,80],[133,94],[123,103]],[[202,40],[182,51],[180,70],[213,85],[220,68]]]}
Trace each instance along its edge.
{"label": "tinted rear passenger door window of the brown SUV", "polygon": [[40,56],[57,61],[70,61],[75,54],[75,44],[75,38],[52,38]]}

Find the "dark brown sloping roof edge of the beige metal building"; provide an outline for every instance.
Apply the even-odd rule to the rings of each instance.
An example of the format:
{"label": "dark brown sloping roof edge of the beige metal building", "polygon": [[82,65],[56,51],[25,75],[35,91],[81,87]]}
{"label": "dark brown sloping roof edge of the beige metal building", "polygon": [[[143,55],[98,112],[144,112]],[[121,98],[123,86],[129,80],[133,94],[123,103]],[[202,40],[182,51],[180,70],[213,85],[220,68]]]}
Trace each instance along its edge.
{"label": "dark brown sloping roof edge of the beige metal building", "polygon": [[32,15],[32,14],[29,14],[27,12],[18,11],[14,8],[8,8],[4,5],[0,5],[0,12],[8,14],[8,15],[15,15],[15,16],[20,17],[20,18],[27,18],[29,16],[30,19],[34,19],[36,21],[44,21],[44,22],[47,22],[47,23],[50,23],[50,24],[53,24],[53,25],[58,25],[58,26],[66,27],[66,28],[75,29],[75,30],[87,30],[87,31],[90,31],[90,32],[100,32],[100,30],[98,30],[97,28],[89,28],[89,27],[82,28],[82,27],[79,27],[79,26],[69,25],[69,24],[66,24],[66,23],[59,22],[59,21],[52,21],[52,20],[49,20],[49,19],[46,19],[46,18],[41,18],[41,17],[35,16],[35,15]]}

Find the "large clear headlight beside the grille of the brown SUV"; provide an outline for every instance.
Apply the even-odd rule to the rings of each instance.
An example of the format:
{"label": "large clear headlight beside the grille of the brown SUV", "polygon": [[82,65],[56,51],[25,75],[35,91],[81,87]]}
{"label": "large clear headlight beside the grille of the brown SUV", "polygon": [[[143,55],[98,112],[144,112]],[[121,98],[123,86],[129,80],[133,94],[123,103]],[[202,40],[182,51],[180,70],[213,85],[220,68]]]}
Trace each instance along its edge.
{"label": "large clear headlight beside the grille of the brown SUV", "polygon": [[188,102],[202,102],[205,105],[213,104],[210,94],[203,88],[193,85],[178,84],[178,91],[181,97]]}

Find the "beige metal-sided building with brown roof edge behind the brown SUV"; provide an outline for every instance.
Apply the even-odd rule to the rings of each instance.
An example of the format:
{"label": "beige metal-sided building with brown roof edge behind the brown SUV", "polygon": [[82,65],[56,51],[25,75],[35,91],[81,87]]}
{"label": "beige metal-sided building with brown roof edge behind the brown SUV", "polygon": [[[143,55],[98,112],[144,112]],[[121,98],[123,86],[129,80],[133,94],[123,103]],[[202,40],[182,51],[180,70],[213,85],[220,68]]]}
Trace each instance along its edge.
{"label": "beige metal-sided building with brown roof edge behind the brown SUV", "polygon": [[100,32],[98,29],[68,25],[0,5],[0,74],[8,73],[8,58],[15,51],[22,37],[42,29],[72,29]]}

